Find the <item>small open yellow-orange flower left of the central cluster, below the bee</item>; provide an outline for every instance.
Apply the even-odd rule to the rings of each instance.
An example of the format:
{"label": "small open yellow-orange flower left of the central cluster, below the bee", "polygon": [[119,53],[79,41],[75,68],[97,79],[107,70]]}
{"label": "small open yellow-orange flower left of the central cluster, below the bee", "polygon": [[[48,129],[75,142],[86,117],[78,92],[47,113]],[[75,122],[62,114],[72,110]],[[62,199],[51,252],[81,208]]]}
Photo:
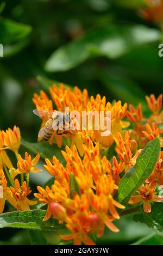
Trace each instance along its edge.
{"label": "small open yellow-orange flower left of the central cluster, below the bee", "polygon": [[25,153],[25,159],[22,159],[20,154],[18,154],[17,158],[17,168],[20,173],[38,173],[42,171],[40,168],[35,168],[36,164],[39,162],[40,159],[39,153],[35,156],[33,160],[27,152]]}

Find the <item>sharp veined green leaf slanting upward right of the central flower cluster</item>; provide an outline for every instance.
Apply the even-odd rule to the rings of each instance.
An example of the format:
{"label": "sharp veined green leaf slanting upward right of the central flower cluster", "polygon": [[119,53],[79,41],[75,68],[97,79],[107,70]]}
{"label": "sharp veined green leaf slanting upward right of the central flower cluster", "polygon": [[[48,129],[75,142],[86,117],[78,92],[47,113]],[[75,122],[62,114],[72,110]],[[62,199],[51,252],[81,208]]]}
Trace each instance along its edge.
{"label": "sharp veined green leaf slanting upward right of the central flower cluster", "polygon": [[160,152],[160,138],[149,142],[137,158],[135,166],[123,176],[118,184],[115,199],[123,205],[128,203],[131,195],[143,184],[152,173]]}

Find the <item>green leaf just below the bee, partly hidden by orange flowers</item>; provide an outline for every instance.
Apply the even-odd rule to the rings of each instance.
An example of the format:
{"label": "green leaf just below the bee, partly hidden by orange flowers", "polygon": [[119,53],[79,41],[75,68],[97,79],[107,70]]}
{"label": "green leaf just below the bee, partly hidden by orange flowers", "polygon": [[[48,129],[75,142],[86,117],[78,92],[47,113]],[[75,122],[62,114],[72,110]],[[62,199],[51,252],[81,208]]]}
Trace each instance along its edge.
{"label": "green leaf just below the bee, partly hidden by orange flowers", "polygon": [[57,144],[50,145],[45,141],[31,143],[22,139],[21,145],[34,154],[40,153],[42,159],[48,158],[52,161],[53,156],[56,156],[61,163],[65,162],[64,157],[61,154],[61,150],[64,150],[64,147],[60,149]]}

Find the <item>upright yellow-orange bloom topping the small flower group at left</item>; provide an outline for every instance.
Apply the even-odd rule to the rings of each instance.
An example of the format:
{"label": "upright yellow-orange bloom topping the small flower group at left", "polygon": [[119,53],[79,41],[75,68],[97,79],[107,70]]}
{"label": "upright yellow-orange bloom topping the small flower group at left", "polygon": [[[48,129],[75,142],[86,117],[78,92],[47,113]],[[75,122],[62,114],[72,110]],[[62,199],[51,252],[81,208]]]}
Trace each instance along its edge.
{"label": "upright yellow-orange bloom topping the small flower group at left", "polygon": [[4,136],[5,147],[8,147],[10,150],[17,153],[21,144],[20,129],[15,125],[13,130],[8,128],[8,130],[6,130],[5,132],[3,131],[3,136]]}

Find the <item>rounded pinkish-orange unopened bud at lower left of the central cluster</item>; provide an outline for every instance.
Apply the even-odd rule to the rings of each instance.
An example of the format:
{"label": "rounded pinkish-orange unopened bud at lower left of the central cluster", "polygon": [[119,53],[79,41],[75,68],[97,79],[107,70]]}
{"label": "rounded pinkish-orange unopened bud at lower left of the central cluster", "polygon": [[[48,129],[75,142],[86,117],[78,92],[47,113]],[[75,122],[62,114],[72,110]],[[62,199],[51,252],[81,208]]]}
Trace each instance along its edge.
{"label": "rounded pinkish-orange unopened bud at lower left of the central cluster", "polygon": [[50,203],[50,211],[54,218],[57,218],[59,221],[63,221],[66,218],[66,210],[59,203]]}

